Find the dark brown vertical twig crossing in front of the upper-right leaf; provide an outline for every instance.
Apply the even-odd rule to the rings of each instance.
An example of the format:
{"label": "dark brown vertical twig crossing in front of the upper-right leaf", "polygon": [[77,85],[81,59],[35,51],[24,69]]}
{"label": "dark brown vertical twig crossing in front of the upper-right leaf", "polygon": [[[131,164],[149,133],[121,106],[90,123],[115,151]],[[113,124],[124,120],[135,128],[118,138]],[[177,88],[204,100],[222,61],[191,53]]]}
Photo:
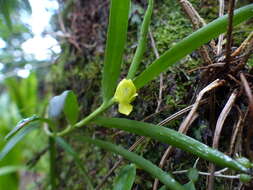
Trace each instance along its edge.
{"label": "dark brown vertical twig crossing in front of the upper-right leaf", "polygon": [[226,43],[226,63],[230,63],[231,46],[232,46],[232,32],[233,32],[233,17],[234,17],[235,0],[229,0],[228,7],[228,29],[227,29],[227,43]]}

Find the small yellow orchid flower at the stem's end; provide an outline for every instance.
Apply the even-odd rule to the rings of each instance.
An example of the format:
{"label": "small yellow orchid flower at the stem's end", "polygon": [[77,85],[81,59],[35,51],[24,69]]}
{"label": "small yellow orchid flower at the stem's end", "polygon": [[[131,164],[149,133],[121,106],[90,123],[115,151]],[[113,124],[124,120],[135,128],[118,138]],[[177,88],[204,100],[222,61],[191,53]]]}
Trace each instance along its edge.
{"label": "small yellow orchid flower at the stem's end", "polygon": [[119,103],[119,112],[129,115],[133,110],[130,104],[138,94],[131,79],[123,79],[117,86],[114,94],[114,100]]}

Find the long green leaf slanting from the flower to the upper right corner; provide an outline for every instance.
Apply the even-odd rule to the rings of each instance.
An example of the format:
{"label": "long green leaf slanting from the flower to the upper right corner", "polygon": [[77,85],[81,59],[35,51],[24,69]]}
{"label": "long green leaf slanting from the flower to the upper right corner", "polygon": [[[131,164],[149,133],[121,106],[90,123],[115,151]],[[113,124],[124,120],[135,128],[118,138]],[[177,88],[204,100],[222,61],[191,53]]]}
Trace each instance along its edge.
{"label": "long green leaf slanting from the flower to the upper right corner", "polygon": [[[234,13],[234,25],[249,19],[253,16],[253,4],[237,9]],[[141,88],[150,80],[163,71],[166,71],[171,65],[193,52],[211,39],[224,33],[228,25],[228,16],[220,17],[206,26],[200,28],[196,32],[184,38],[182,41],[174,45],[170,50],[166,51],[159,59],[155,60],[134,80],[137,88]]]}

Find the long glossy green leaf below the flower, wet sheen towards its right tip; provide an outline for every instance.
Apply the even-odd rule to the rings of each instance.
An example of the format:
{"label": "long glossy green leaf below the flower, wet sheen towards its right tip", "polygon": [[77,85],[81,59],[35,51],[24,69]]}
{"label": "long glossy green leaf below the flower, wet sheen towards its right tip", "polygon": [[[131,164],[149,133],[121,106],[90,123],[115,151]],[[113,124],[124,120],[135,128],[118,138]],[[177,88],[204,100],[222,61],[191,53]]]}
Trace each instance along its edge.
{"label": "long glossy green leaf below the flower, wet sheen towards its right tip", "polygon": [[228,167],[246,173],[249,172],[248,168],[231,157],[172,129],[123,118],[98,117],[93,121],[93,123],[108,128],[121,129],[141,136],[151,137],[160,142],[164,142],[190,152],[222,167]]}

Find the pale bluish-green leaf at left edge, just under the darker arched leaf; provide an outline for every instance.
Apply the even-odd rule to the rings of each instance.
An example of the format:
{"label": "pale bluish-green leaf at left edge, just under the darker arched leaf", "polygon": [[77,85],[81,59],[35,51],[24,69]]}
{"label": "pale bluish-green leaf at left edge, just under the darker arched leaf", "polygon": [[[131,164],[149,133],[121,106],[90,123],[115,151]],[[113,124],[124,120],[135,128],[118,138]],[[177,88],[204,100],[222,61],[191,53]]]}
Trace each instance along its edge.
{"label": "pale bluish-green leaf at left edge, just under the darker arched leaf", "polygon": [[0,160],[2,160],[14,147],[15,145],[21,141],[28,133],[37,129],[39,126],[26,126],[26,128],[20,130],[15,136],[13,136],[4,146],[4,148],[0,152]]}

